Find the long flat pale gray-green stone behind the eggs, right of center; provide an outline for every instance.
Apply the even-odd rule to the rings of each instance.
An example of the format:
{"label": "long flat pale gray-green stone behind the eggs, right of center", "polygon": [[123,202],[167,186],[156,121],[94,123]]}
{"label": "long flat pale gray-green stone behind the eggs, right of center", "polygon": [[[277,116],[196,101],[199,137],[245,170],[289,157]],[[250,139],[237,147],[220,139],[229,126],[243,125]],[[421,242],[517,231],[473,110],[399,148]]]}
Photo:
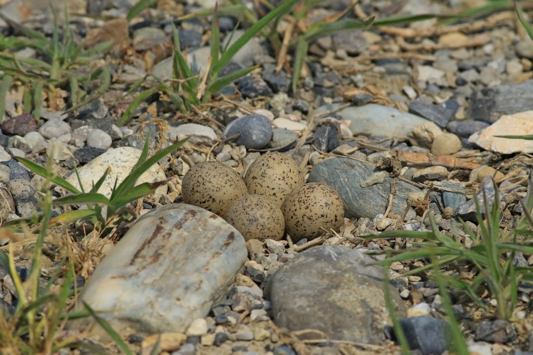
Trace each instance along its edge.
{"label": "long flat pale gray-green stone behind the eggs, right of center", "polygon": [[[333,107],[324,107],[326,111]],[[321,110],[317,109],[317,113]],[[407,137],[416,126],[429,122],[417,115],[377,104],[350,106],[338,112],[345,120],[350,120],[354,133],[362,132],[376,136]]]}

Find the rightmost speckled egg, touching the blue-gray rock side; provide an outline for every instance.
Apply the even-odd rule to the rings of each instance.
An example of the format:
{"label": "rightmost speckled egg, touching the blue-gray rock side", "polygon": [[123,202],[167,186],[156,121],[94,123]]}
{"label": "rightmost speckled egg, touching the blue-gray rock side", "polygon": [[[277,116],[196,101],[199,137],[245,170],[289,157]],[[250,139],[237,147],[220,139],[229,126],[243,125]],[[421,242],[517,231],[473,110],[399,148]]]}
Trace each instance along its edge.
{"label": "rightmost speckled egg, touching the blue-gray rock side", "polygon": [[295,189],[281,205],[281,212],[285,216],[285,232],[295,243],[324,234],[320,227],[338,231],[344,223],[341,196],[333,188],[320,183],[309,183]]}

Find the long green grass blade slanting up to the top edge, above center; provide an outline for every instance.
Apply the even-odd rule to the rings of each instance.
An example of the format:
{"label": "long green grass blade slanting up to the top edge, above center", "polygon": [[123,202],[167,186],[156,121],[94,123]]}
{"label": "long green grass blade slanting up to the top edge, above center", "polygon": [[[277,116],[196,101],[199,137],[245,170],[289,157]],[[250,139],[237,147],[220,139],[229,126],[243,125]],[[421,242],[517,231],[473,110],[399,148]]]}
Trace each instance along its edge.
{"label": "long green grass blade slanting up to the top edge, above center", "polygon": [[216,63],[216,65],[212,67],[212,75],[216,78],[222,68],[224,68],[230,62],[232,57],[239,51],[239,49],[242,48],[246,43],[248,43],[248,41],[251,40],[252,37],[257,34],[257,32],[261,31],[266,26],[266,24],[268,24],[277,16],[292,9],[292,7],[296,5],[298,1],[300,0],[288,0],[279,7],[277,7],[275,10],[269,12],[261,20],[254,23],[252,27],[250,27],[241,37],[239,37],[235,41],[235,43],[233,43],[228,48],[227,51],[222,54],[220,60]]}

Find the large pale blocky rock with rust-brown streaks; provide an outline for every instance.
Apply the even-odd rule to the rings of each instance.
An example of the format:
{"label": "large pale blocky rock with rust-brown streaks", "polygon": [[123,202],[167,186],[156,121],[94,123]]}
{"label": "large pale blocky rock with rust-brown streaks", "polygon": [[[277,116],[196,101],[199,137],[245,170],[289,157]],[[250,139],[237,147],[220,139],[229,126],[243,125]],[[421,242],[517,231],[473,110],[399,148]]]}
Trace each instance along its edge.
{"label": "large pale blocky rock with rust-brown streaks", "polygon": [[[247,260],[237,229],[203,208],[167,204],[141,217],[98,265],[80,295],[117,332],[184,333],[207,316]],[[102,335],[91,318],[74,321]]]}

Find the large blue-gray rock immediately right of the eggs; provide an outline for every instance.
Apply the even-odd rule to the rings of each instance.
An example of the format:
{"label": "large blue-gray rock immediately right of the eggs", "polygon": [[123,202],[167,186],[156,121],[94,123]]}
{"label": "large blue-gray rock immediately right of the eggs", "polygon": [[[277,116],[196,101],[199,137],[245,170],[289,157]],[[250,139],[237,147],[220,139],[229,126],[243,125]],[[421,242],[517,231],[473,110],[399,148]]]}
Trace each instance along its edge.
{"label": "large blue-gray rock immediately right of the eggs", "polygon": [[[392,181],[387,176],[381,184],[361,187],[361,183],[376,171],[379,170],[369,163],[349,158],[332,158],[317,164],[311,170],[308,183],[329,185],[341,195],[345,217],[373,219],[377,214],[385,212]],[[392,212],[401,215],[407,207],[408,194],[420,191],[413,185],[397,181]]]}

